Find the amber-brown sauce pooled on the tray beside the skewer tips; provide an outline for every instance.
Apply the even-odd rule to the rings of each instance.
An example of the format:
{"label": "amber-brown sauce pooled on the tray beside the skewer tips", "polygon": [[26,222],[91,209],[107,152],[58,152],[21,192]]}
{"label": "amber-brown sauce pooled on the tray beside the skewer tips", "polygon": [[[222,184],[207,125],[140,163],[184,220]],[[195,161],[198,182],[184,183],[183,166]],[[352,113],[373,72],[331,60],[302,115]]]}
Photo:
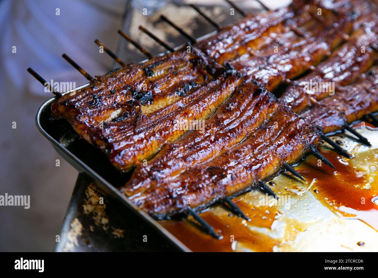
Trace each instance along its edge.
{"label": "amber-brown sauce pooled on the tray beside the skewer tips", "polygon": [[[373,131],[369,133],[376,134]],[[323,144],[319,151],[336,169],[324,164],[318,166],[317,158],[307,155],[304,161],[295,166],[306,183],[285,173],[274,179],[276,186],[274,183],[270,183],[270,186],[276,194],[297,198],[295,206],[306,209],[309,199],[301,198],[310,194],[337,217],[347,221],[363,221],[378,231],[378,149],[363,148],[344,135],[335,136],[335,140],[349,144],[349,151],[355,157],[339,157]],[[259,204],[260,196],[262,193],[255,190],[233,200],[251,218],[250,222],[233,215],[222,204],[214,205],[200,214],[223,236],[221,240],[204,233],[192,217],[178,221],[163,220],[160,224],[194,252],[271,252],[279,250],[276,249],[278,246],[292,247],[297,235],[305,232],[311,223],[301,223],[295,217],[290,217],[291,210],[285,210],[282,206]],[[316,214],[315,209],[310,209],[309,214]],[[295,251],[295,247],[292,248]]]}

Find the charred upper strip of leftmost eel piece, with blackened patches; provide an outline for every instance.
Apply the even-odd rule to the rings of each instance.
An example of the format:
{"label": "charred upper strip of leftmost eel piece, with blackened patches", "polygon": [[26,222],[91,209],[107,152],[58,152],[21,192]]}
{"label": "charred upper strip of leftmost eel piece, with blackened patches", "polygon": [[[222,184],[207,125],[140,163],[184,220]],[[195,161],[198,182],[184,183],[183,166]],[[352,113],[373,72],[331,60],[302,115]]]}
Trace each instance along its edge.
{"label": "charred upper strip of leftmost eel piece, with blackened patches", "polygon": [[91,142],[88,127],[121,121],[128,113],[155,112],[211,81],[221,68],[191,47],[191,53],[181,50],[97,76],[98,80],[88,87],[54,102],[51,110],[53,115],[66,118]]}

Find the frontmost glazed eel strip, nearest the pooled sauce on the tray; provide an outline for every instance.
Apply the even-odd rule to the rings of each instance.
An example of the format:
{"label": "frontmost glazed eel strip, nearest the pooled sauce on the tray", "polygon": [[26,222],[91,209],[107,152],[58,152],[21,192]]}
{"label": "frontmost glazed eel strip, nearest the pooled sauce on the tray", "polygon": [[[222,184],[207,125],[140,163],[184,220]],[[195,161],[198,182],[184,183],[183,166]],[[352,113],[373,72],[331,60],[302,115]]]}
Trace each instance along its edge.
{"label": "frontmost glazed eel strip, nearest the pooled sauce on the tray", "polygon": [[259,180],[277,173],[283,162],[297,161],[311,144],[318,143],[314,126],[280,106],[268,123],[234,148],[174,179],[151,184],[134,196],[133,202],[157,219],[188,207],[202,208],[248,190]]}

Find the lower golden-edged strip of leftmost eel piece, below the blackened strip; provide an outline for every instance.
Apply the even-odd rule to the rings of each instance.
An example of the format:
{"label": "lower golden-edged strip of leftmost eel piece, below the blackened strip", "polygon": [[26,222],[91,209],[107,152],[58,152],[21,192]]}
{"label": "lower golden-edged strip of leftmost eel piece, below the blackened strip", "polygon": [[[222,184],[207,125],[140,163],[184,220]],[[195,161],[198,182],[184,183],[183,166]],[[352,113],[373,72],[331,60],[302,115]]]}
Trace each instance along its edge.
{"label": "lower golden-edged strip of leftmost eel piece, below the blackened strip", "polygon": [[139,128],[138,121],[135,121],[135,127],[125,132],[122,123],[104,123],[103,129],[93,133],[92,136],[96,138],[96,142],[100,142],[98,145],[105,144],[113,165],[122,170],[129,170],[136,162],[150,159],[163,144],[174,142],[189,132],[175,121],[179,120],[185,125],[191,121],[209,118],[242,82],[237,74],[225,73],[225,75],[225,78],[218,77],[220,81],[217,84],[209,83],[198,89],[201,91],[198,93],[200,95],[198,98],[161,115],[158,120],[150,124],[143,123]]}

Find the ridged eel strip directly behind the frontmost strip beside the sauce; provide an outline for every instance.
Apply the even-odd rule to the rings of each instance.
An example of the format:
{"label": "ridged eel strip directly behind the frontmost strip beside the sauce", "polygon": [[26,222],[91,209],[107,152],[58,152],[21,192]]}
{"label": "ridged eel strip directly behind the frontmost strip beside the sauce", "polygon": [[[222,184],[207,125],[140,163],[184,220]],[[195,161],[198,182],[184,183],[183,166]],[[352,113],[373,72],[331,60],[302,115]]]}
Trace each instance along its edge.
{"label": "ridged eel strip directly behind the frontmost strip beside the sauce", "polygon": [[133,199],[162,179],[217,157],[266,123],[278,107],[275,96],[258,82],[241,85],[204,122],[204,129],[192,130],[180,140],[166,144],[147,165],[137,163],[124,193]]}

